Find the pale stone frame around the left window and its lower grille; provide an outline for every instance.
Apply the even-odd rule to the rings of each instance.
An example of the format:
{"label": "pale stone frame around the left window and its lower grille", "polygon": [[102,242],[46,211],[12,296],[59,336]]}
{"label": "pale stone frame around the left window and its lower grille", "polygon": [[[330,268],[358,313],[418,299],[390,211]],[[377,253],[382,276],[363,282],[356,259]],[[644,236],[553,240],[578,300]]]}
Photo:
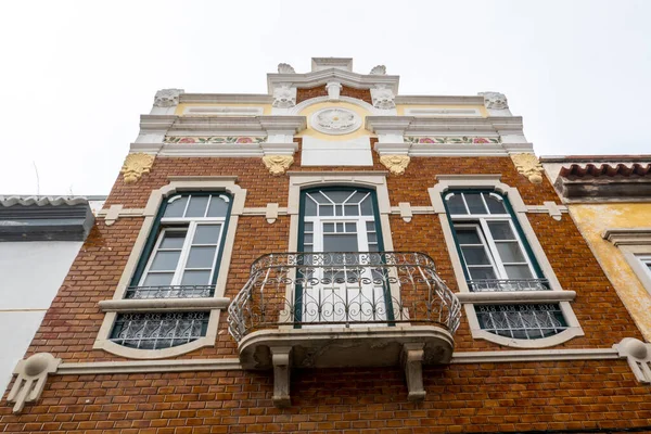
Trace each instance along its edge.
{"label": "pale stone frame around the left window and its lower grille", "polygon": [[[142,213],[144,220],[136,243],[131,250],[123,275],[119,279],[113,299],[100,302],[100,308],[105,312],[104,321],[100,327],[98,336],[93,344],[93,349],[103,349],[107,353],[130,358],[130,359],[161,359],[175,357],[186,353],[193,352],[201,347],[214,346],[217,341],[217,329],[219,316],[222,309],[226,309],[230,299],[225,297],[226,283],[230,263],[232,257],[232,247],[235,240],[235,232],[240,216],[244,212],[244,202],[246,200],[246,190],[235,184],[237,177],[216,176],[216,177],[169,177],[169,183],[152,191]],[[214,295],[208,298],[159,298],[159,299],[129,299],[125,298],[125,293],[133,278],[140,257],[143,254],[146,241],[150,238],[152,228],[156,221],[158,209],[164,201],[177,193],[187,191],[208,191],[212,193],[226,192],[233,201],[230,216],[228,218],[228,230],[224,239],[224,248],[221,251],[221,260],[216,266],[218,270],[217,281],[215,283]],[[226,224],[224,224],[226,225]],[[222,227],[224,230],[224,227]],[[144,273],[143,273],[144,275]],[[111,341],[111,331],[118,314],[123,312],[144,312],[144,311],[209,311],[206,335],[192,341],[188,344],[161,349],[139,349],[129,348]]]}

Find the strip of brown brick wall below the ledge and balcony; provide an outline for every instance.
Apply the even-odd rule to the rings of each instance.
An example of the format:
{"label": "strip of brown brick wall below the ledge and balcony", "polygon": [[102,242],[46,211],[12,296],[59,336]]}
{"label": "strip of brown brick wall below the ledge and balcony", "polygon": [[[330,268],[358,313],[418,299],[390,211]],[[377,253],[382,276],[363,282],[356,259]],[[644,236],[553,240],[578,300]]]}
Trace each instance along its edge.
{"label": "strip of brown brick wall below the ledge and balcony", "polygon": [[[297,370],[292,407],[272,406],[270,372],[53,376],[0,432],[480,433],[651,426],[651,394],[625,360],[426,368],[409,403],[399,369]],[[647,431],[649,432],[649,431]]]}

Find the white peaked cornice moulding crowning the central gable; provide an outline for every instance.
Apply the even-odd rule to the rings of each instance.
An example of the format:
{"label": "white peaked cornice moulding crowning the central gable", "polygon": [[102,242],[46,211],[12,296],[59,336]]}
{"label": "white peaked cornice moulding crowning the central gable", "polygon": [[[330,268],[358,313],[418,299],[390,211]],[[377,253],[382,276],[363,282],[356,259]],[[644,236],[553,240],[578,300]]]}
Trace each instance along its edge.
{"label": "white peaked cornice moulding crowning the central gable", "polygon": [[275,85],[292,84],[305,89],[319,85],[326,86],[328,81],[339,81],[342,85],[356,89],[370,89],[374,85],[385,85],[394,94],[398,93],[400,77],[397,75],[361,75],[349,71],[329,68],[305,74],[267,74],[267,89],[273,93]]}

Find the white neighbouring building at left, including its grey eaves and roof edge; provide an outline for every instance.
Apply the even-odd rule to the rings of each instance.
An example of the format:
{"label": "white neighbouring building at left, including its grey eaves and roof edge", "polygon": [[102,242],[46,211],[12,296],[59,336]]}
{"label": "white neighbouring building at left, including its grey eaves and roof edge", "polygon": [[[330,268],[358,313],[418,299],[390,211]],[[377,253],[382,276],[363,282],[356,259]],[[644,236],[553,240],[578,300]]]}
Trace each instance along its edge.
{"label": "white neighbouring building at left, including its grey eaves and roof edge", "polygon": [[104,199],[0,196],[2,391],[93,225],[91,207]]}

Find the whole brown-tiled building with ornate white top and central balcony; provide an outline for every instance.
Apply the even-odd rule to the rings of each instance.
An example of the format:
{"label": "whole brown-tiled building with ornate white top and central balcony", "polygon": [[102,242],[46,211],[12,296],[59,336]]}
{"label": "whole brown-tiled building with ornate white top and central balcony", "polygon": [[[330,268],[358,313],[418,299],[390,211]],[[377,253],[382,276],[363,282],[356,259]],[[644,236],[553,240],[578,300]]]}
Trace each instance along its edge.
{"label": "whole brown-tiled building with ornate white top and central balcony", "polygon": [[156,93],[5,432],[651,430],[644,336],[506,97]]}

